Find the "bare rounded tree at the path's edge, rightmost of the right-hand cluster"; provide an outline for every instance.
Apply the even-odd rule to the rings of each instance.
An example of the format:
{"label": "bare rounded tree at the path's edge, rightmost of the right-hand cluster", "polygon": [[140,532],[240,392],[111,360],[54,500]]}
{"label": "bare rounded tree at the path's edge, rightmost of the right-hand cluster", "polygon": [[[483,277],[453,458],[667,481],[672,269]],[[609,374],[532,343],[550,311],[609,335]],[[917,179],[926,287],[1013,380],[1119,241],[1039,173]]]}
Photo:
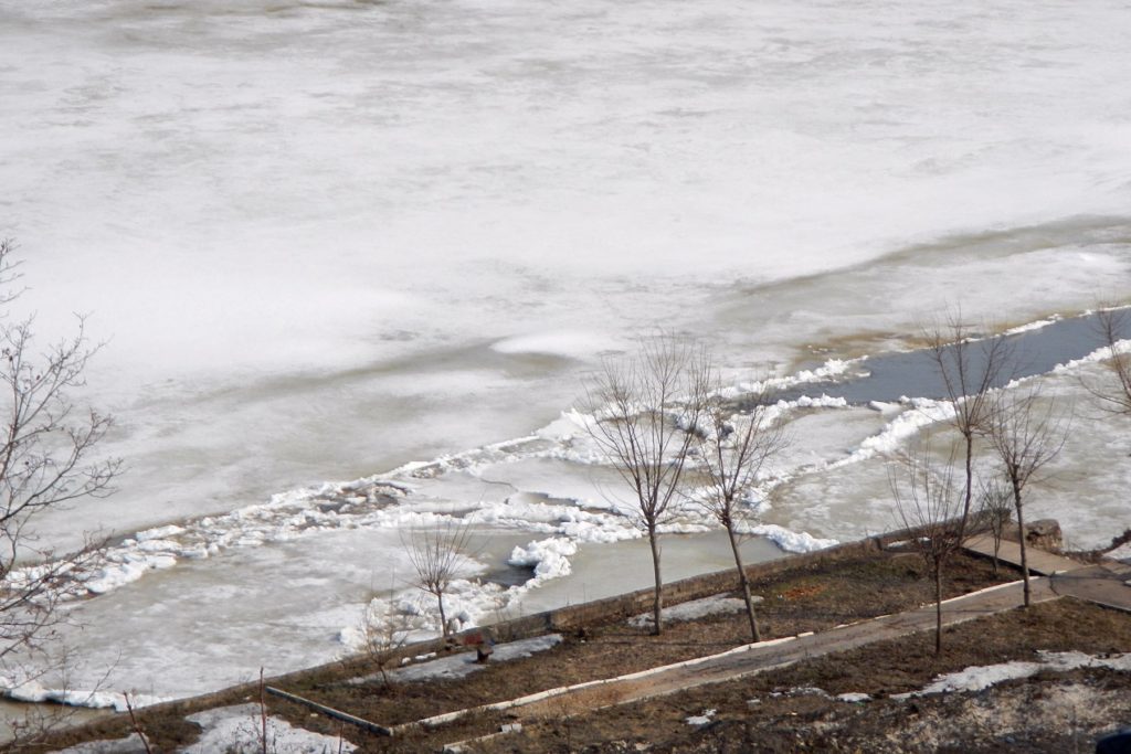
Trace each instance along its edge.
{"label": "bare rounded tree at the path's edge, rightmost of the right-hand cluster", "polygon": [[1061,417],[1056,401],[1044,398],[1036,382],[1027,389],[1001,391],[995,404],[990,441],[998,452],[1013,499],[1018,541],[1021,548],[1021,577],[1025,580],[1025,606],[1028,607],[1030,593],[1025,541],[1025,492],[1037,480],[1037,473],[1056,458],[1064,447],[1071,416]]}

